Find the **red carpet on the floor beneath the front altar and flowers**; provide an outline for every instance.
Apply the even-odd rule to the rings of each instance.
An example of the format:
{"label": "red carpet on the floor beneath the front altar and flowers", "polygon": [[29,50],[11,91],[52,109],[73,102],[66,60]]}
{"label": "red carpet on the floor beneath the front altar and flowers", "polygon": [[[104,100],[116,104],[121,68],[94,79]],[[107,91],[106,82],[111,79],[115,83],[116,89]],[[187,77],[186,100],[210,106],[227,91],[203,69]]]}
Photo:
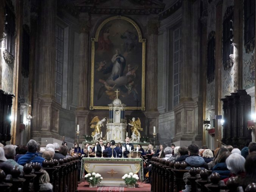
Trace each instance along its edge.
{"label": "red carpet on the floor beneath the front altar and flowers", "polygon": [[97,188],[90,188],[87,182],[82,182],[78,184],[77,190],[80,192],[150,192],[151,185],[145,183],[137,183],[139,187],[136,188],[127,188],[127,187],[97,187]]}

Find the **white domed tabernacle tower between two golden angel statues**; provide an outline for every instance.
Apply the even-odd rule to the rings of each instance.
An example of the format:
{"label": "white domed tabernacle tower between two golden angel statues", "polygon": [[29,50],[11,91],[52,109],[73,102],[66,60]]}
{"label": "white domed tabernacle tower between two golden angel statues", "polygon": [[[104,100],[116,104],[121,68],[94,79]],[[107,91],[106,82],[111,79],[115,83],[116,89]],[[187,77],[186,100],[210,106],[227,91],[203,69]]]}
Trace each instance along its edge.
{"label": "white domed tabernacle tower between two golden angel statues", "polygon": [[116,98],[109,106],[109,119],[106,124],[106,140],[125,142],[127,123],[125,122],[125,106],[119,98]]}

